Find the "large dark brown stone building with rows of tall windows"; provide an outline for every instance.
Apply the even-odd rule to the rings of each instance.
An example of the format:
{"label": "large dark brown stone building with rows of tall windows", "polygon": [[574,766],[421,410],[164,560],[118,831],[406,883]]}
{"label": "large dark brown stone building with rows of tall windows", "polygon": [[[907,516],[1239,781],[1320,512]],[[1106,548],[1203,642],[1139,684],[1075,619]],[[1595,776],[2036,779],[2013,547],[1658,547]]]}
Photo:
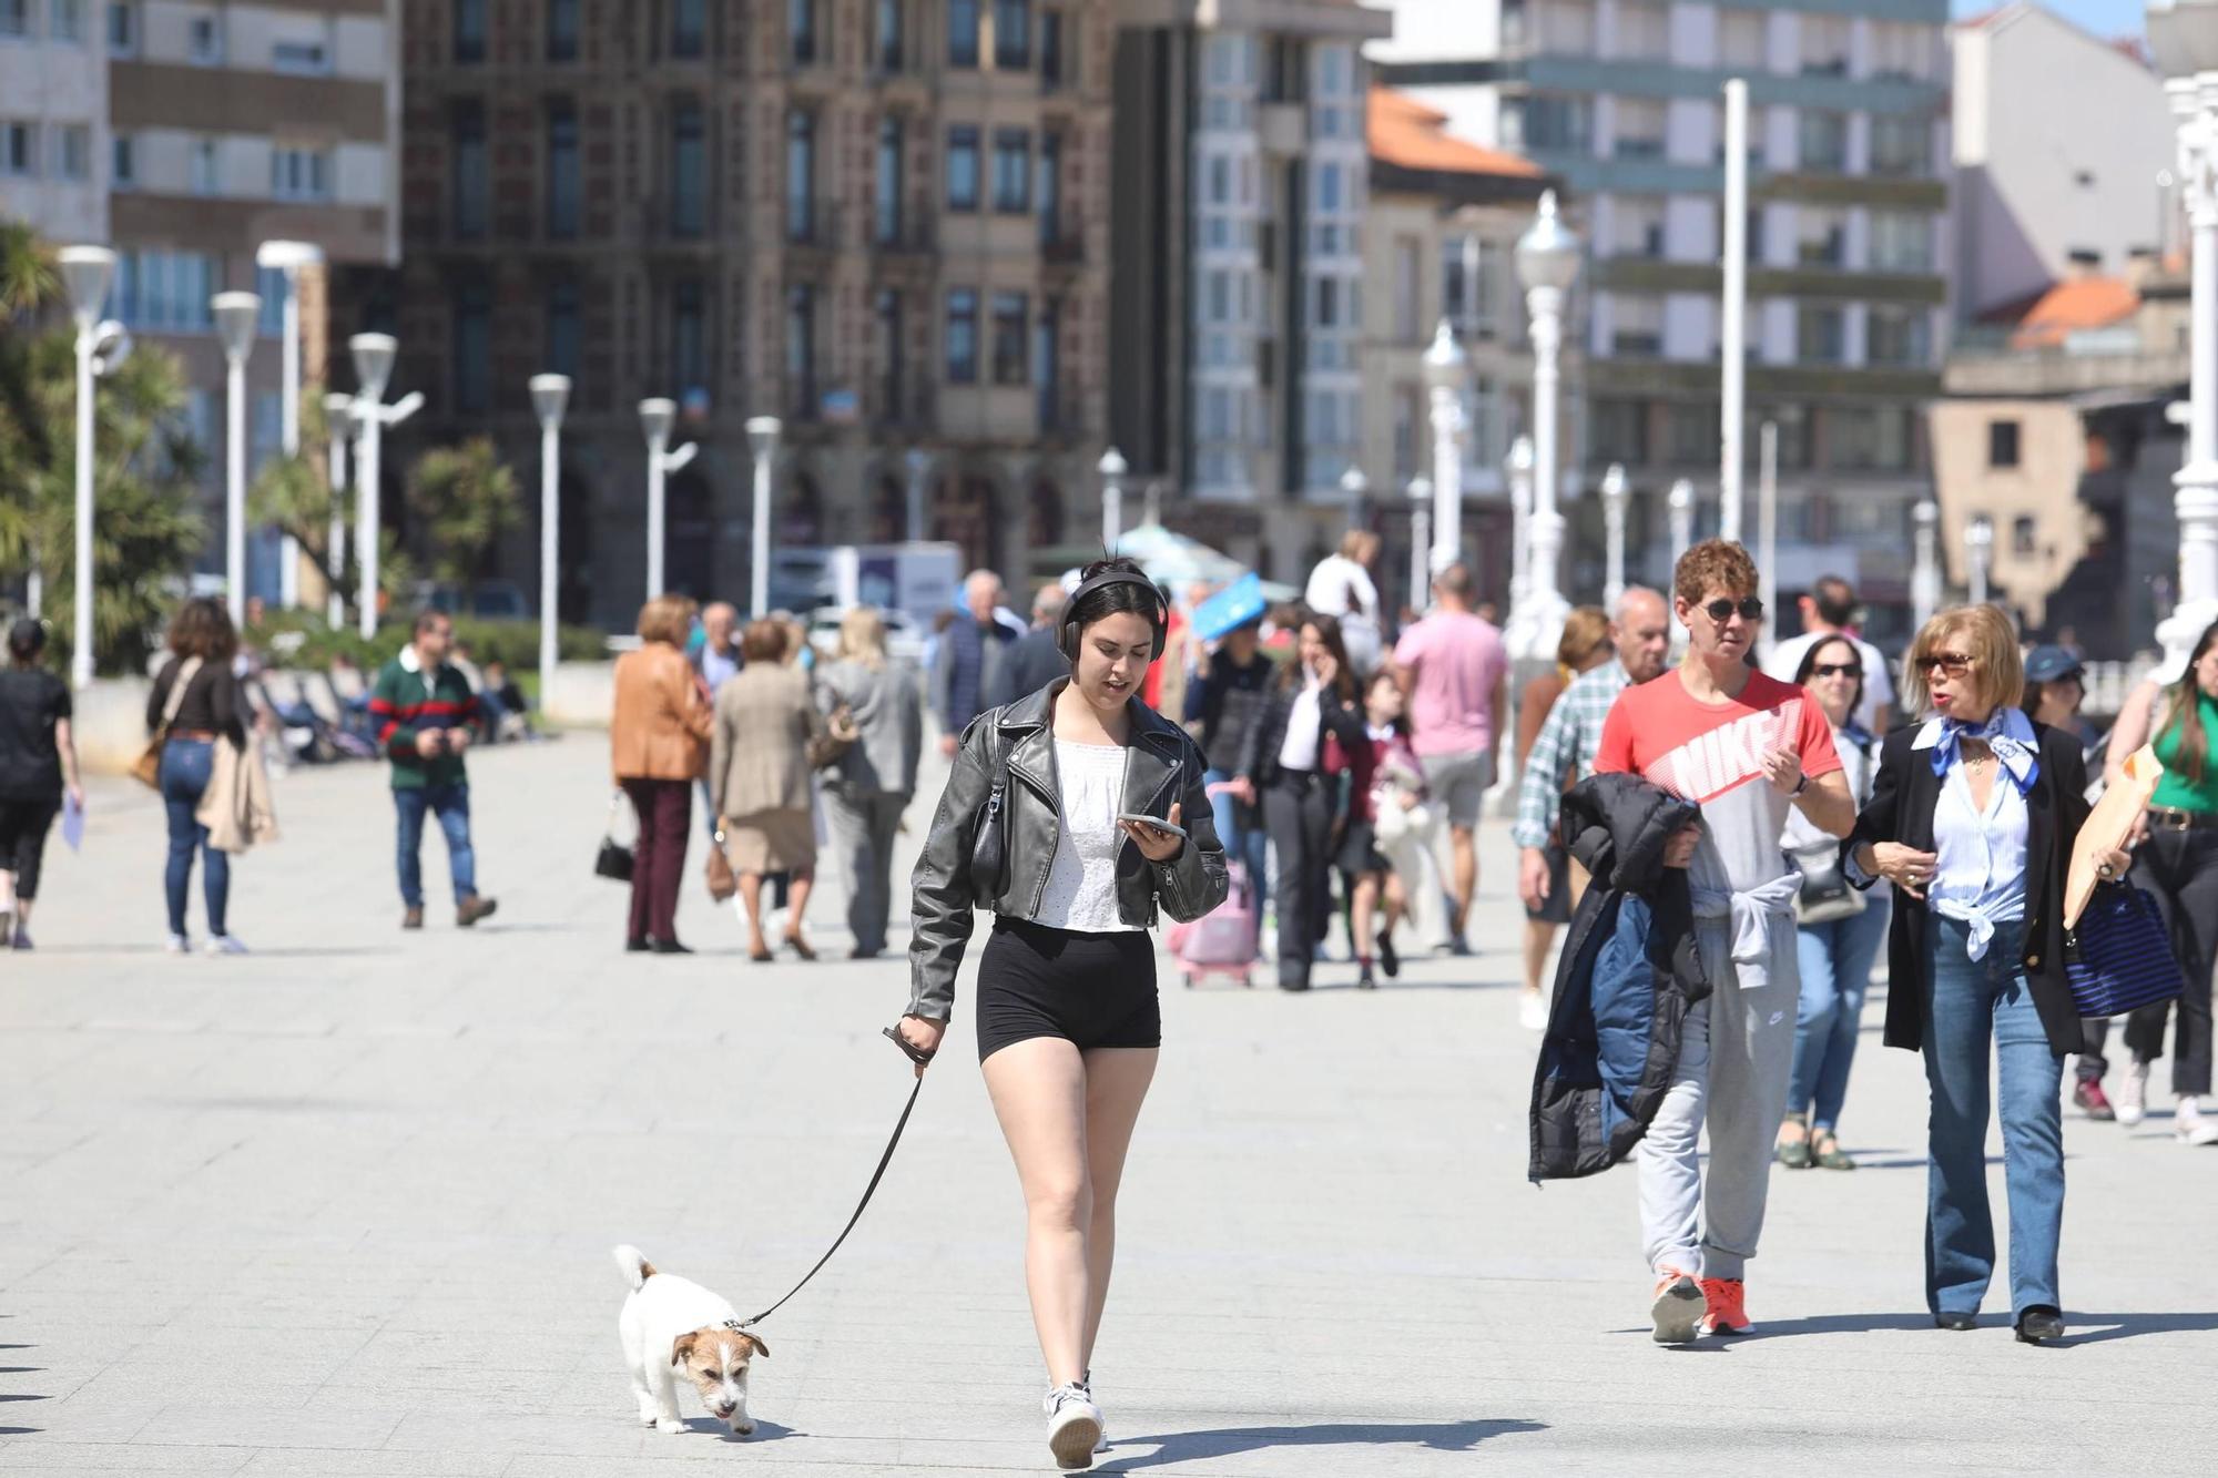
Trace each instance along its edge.
{"label": "large dark brown stone building with rows of tall windows", "polygon": [[535,464],[526,382],[572,377],[566,617],[645,593],[645,397],[701,448],[665,524],[696,597],[747,595],[756,415],[783,422],[774,548],[909,535],[918,451],[914,533],[1011,579],[1098,506],[1105,2],[406,9],[395,388],[430,408],[404,446]]}

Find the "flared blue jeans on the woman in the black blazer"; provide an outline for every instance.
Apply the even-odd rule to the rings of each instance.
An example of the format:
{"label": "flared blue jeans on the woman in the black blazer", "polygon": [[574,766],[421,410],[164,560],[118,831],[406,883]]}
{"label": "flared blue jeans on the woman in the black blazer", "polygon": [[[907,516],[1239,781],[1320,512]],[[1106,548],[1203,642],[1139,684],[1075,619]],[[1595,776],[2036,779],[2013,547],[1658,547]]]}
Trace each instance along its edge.
{"label": "flared blue jeans on the woman in the black blazer", "polygon": [[[1925,1083],[1932,1087],[1925,1176],[1925,1305],[1976,1314],[1994,1276],[1987,1209],[1987,1043],[2001,1079],[2003,1181],[2010,1187],[2010,1309],[2061,1309],[2056,1243],[2065,1216],[2065,1059],[2034,1010],[2018,965],[2025,928],[1998,923],[1985,959],[1965,952],[1970,930],[1932,919],[1932,988],[1925,994]],[[1894,990],[1910,988],[1910,981]]]}

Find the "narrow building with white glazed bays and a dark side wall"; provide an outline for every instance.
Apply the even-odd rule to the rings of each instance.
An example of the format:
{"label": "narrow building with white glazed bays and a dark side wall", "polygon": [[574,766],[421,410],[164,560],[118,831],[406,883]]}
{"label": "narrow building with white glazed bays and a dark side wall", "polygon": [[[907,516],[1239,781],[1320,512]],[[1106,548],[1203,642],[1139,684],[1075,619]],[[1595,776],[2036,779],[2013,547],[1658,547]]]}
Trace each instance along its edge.
{"label": "narrow building with white glazed bays and a dark side wall", "polygon": [[[1291,579],[1364,437],[1355,0],[1118,0],[1109,439],[1171,522]],[[1377,473],[1384,479],[1384,470]]]}

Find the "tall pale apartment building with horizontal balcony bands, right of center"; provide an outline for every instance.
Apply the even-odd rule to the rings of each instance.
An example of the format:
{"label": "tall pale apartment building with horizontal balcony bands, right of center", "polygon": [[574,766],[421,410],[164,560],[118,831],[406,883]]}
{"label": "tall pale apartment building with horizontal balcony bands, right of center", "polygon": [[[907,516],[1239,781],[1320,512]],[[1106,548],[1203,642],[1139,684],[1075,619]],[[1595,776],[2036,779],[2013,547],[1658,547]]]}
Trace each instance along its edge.
{"label": "tall pale apartment building with horizontal balcony bands, right of center", "polygon": [[1717,517],[1721,87],[1746,78],[1743,455],[1754,468],[1759,426],[1779,426],[1781,595],[1839,570],[1881,635],[1905,621],[1910,510],[1930,488],[1921,404],[1950,326],[1945,22],[1943,0],[1397,0],[1380,80],[1584,202],[1579,462],[1630,470],[1648,577],[1672,479]]}

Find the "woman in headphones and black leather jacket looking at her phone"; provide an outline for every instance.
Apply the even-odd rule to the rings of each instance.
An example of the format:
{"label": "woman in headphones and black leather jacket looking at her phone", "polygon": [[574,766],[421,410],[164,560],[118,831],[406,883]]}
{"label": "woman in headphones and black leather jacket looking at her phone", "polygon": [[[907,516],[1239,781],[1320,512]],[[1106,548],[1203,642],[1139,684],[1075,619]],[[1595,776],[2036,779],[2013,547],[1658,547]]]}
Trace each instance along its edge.
{"label": "woman in headphones and black leather jacket looking at her phone", "polygon": [[909,905],[898,1034],[918,1072],[954,1014],[971,910],[996,914],[978,961],[978,1059],[1025,1187],[1047,1445],[1067,1469],[1105,1442],[1089,1365],[1125,1150],[1162,1045],[1147,930],[1158,910],[1200,919],[1227,888],[1202,752],[1140,701],[1164,624],[1138,564],[1085,568],[1060,628],[1071,675],[963,730]]}

